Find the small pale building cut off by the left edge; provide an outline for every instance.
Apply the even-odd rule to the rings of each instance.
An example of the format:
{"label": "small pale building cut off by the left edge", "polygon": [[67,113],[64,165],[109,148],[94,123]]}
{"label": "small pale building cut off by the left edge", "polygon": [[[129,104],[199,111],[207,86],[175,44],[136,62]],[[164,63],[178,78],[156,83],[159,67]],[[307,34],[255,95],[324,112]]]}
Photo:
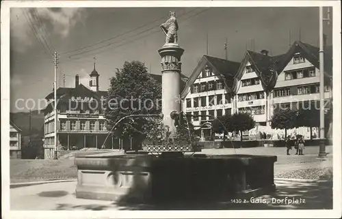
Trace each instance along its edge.
{"label": "small pale building cut off by the left edge", "polygon": [[21,159],[21,132],[12,121],[10,121],[10,158]]}

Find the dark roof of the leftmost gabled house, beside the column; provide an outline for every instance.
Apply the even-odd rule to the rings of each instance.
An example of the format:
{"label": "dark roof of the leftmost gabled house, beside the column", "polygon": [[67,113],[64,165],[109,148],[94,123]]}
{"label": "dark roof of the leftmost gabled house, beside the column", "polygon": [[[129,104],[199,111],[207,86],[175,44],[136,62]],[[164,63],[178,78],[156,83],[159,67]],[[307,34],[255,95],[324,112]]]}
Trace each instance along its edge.
{"label": "dark roof of the leftmost gabled house, beside the column", "polygon": [[211,65],[211,67],[215,70],[215,72],[218,72],[216,76],[221,77],[224,79],[224,84],[226,85],[226,89],[233,90],[236,83],[235,81],[235,74],[237,70],[239,69],[240,63],[236,61],[229,61],[226,59],[220,59],[218,57],[211,57],[209,55],[204,55],[202,59],[200,59],[200,62],[196,66],[194,72],[192,72],[189,79],[187,79],[187,83],[185,84],[185,87],[182,89],[181,98],[185,98],[187,96],[187,88],[189,88],[195,81],[200,72],[203,68],[205,68],[205,65]]}

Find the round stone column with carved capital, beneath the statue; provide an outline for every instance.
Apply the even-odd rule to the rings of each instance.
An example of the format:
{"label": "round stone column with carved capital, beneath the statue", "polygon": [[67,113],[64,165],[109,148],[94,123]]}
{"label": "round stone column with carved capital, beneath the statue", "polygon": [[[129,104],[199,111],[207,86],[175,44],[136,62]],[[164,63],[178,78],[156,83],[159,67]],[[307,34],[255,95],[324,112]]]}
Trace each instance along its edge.
{"label": "round stone column with carved capital, beneath the statue", "polygon": [[170,117],[172,111],[181,111],[181,56],[183,48],[178,44],[165,44],[158,50],[161,56],[161,73],[162,73],[162,106],[163,124],[170,127],[170,131],[174,132],[174,121]]}

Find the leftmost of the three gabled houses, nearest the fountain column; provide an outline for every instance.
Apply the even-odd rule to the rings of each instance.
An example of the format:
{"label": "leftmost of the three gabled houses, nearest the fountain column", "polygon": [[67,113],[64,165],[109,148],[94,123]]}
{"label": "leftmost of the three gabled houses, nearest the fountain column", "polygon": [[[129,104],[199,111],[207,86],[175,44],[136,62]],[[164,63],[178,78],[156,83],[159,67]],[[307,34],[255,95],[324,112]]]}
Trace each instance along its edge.
{"label": "leftmost of the three gabled houses, nearest the fountain column", "polygon": [[211,136],[213,117],[231,114],[238,68],[239,63],[235,61],[204,55],[189,76],[181,93],[183,111],[192,115],[211,116],[192,119],[194,126],[202,127],[202,138]]}

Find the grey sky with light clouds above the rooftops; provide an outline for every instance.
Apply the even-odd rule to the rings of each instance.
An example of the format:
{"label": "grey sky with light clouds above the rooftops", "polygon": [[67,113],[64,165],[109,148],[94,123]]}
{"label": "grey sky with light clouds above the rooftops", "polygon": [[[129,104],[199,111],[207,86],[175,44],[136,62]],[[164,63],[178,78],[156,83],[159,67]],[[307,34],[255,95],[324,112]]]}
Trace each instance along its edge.
{"label": "grey sky with light clouds above the rooftops", "polygon": [[[57,87],[74,87],[76,74],[88,86],[94,57],[100,90],[108,89],[109,78],[124,61],[142,61],[152,74],[161,74],[157,50],[165,43],[165,35],[159,25],[170,11],[176,12],[179,23],[186,76],[206,55],[206,41],[207,55],[224,59],[227,40],[231,61],[241,61],[246,49],[280,55],[295,40],[319,45],[318,8],[12,8],[10,111],[29,111],[32,100],[36,102],[32,109],[37,109],[39,100],[52,91],[54,51]],[[324,23],[324,33],[327,44],[332,44],[332,23]],[[19,99],[31,99],[28,108],[21,108],[22,100],[17,108]]]}

